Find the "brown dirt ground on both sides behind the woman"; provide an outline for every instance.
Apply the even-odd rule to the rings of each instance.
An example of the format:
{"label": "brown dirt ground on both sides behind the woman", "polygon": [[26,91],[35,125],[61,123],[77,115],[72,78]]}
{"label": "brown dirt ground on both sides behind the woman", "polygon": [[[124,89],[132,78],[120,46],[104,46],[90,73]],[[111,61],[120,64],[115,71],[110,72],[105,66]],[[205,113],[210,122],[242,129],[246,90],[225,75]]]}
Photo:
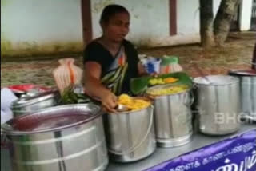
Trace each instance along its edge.
{"label": "brown dirt ground on both sides behind the woman", "polygon": [[[202,50],[198,44],[186,46],[165,46],[149,49],[139,49],[139,54],[147,54],[154,57],[162,55],[176,55],[187,74],[192,77],[200,76],[200,72],[194,67],[198,64],[203,74],[226,74],[232,69],[250,69],[247,62],[251,61],[255,32],[232,33],[222,48]],[[71,55],[72,56],[72,55]],[[71,57],[70,55],[62,58]],[[82,67],[82,57],[75,56],[76,64]],[[13,61],[5,61],[1,58],[1,87],[23,83],[54,86],[52,71],[58,66],[59,58],[44,57],[40,59],[14,58]]]}

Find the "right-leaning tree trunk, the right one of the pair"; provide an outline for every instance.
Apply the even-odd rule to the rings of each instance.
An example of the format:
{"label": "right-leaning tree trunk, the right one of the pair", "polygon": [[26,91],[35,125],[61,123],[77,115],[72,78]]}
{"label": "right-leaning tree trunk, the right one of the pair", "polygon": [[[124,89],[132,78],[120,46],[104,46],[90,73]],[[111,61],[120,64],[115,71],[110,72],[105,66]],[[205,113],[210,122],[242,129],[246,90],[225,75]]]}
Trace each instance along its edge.
{"label": "right-leaning tree trunk, the right one of the pair", "polygon": [[242,0],[222,0],[214,20],[215,42],[223,46],[230,32],[230,25],[234,15],[238,12],[238,5]]}

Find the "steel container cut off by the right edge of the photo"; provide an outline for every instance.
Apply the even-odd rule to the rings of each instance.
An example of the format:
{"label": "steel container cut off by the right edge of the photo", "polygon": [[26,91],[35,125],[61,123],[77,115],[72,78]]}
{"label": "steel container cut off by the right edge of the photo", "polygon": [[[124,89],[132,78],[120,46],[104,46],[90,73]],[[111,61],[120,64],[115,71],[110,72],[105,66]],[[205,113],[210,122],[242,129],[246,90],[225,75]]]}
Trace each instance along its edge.
{"label": "steel container cut off by the right edge of the photo", "polygon": [[256,121],[256,70],[230,70],[229,74],[240,80],[242,117]]}

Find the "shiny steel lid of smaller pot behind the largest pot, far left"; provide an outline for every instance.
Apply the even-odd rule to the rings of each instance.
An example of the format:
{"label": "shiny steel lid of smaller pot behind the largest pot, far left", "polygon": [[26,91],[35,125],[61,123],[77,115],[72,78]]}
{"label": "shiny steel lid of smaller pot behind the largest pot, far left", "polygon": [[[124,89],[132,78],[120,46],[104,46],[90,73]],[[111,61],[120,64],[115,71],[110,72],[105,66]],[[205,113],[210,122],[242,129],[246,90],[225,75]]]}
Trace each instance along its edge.
{"label": "shiny steel lid of smaller pot behind the largest pot, far left", "polygon": [[24,107],[26,105],[32,105],[40,101],[46,101],[50,98],[57,97],[58,95],[59,95],[58,90],[46,91],[43,93],[36,93],[32,96],[19,98],[18,100],[12,103],[11,108],[17,109],[17,108]]}

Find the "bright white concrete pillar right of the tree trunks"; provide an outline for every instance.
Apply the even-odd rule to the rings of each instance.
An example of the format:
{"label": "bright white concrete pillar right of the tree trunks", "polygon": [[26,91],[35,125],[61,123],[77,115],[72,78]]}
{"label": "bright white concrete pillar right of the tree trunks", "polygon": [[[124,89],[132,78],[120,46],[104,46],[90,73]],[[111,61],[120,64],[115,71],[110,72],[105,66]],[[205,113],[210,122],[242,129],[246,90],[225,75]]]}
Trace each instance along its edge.
{"label": "bright white concrete pillar right of the tree trunks", "polygon": [[250,30],[250,21],[252,13],[253,0],[242,0],[240,6],[240,22],[239,29],[241,31]]}

